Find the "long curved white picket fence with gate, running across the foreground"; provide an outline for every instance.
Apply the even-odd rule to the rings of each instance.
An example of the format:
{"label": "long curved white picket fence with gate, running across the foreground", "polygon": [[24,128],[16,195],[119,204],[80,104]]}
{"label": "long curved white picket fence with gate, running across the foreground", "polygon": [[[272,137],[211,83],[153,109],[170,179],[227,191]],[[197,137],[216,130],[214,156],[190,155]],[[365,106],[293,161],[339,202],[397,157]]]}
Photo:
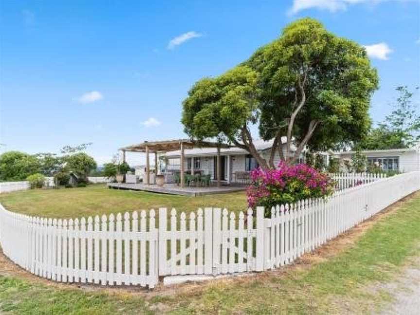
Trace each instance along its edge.
{"label": "long curved white picket fence with gate, running across the foreground", "polygon": [[[12,261],[51,280],[153,288],[158,276],[263,271],[306,252],[420,189],[420,172],[237,216],[219,208],[187,218],[165,208],[75,220],[30,217],[0,205],[0,244]],[[158,221],[158,222],[156,222]],[[158,227],[156,224],[158,223]]]}

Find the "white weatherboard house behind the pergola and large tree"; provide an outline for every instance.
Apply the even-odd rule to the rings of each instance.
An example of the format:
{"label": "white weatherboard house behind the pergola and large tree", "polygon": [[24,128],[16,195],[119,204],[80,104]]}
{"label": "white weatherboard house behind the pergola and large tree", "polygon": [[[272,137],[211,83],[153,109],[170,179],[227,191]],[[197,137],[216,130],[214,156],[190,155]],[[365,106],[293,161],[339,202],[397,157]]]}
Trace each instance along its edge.
{"label": "white weatherboard house behind the pergola and large tree", "polygon": [[[256,149],[267,161],[270,157],[273,140],[254,140]],[[284,145],[284,143],[283,143]],[[291,150],[296,148],[292,145]],[[283,150],[284,151],[284,150]],[[167,152],[164,156],[168,160],[167,171],[177,171],[180,169],[180,151]],[[258,167],[258,163],[246,150],[238,147],[221,149],[221,180],[226,183],[242,182],[246,179],[246,174]],[[211,179],[217,177],[217,149],[216,148],[194,148],[184,151],[184,169],[189,172],[211,175]],[[303,159],[300,159],[303,161]],[[280,162],[279,153],[276,151],[274,164]]]}

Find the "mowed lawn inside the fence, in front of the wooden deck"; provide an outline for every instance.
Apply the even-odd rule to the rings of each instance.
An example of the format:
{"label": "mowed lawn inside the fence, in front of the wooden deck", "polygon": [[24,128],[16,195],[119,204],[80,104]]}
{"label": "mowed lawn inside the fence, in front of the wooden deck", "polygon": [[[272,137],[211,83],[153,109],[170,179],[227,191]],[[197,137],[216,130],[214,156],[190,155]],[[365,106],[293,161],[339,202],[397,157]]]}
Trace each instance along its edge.
{"label": "mowed lawn inside the fence, in front of the wooden deck", "polygon": [[50,189],[10,192],[0,194],[1,204],[8,210],[52,218],[76,218],[134,210],[157,211],[175,208],[187,213],[204,207],[227,208],[231,211],[246,210],[245,192],[181,196],[153,192],[135,192],[108,189],[105,185],[87,188]]}

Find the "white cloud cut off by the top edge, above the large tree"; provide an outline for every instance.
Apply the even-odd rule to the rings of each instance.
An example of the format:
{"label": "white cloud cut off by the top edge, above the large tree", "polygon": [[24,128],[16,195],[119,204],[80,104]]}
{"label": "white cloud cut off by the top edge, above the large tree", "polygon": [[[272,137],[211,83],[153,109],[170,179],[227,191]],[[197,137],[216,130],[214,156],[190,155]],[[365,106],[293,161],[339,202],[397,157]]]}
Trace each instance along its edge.
{"label": "white cloud cut off by the top edge, above the large tree", "polygon": [[[351,4],[363,3],[376,4],[379,2],[391,0],[293,0],[293,6],[289,9],[289,14],[296,14],[299,11],[306,9],[316,8],[320,10],[328,10],[336,12],[346,10]],[[407,0],[394,0],[394,1],[407,1]]]}

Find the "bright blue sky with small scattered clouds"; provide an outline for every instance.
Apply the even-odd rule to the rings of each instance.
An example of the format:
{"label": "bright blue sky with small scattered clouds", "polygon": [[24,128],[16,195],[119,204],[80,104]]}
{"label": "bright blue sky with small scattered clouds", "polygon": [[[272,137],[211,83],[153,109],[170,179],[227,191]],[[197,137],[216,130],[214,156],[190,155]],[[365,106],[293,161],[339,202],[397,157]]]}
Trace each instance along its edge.
{"label": "bright blue sky with small scattered clouds", "polygon": [[[289,22],[317,18],[367,45],[379,71],[371,116],[420,82],[418,0],[0,1],[0,152],[185,137],[192,84],[249,57]],[[416,95],[416,102],[419,95]],[[419,104],[419,103],[417,103]],[[141,155],[130,156],[133,164]]]}

